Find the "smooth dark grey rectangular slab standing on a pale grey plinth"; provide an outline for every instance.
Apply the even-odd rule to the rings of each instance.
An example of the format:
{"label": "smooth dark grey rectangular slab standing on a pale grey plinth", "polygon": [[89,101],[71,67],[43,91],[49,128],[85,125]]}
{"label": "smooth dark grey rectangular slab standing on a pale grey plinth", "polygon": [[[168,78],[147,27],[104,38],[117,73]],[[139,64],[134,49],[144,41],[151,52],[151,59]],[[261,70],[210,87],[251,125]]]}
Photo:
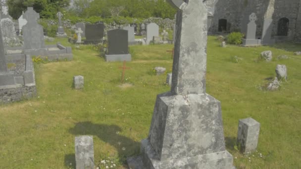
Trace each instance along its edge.
{"label": "smooth dark grey rectangular slab standing on a pale grey plinth", "polygon": [[107,32],[108,54],[128,54],[128,31],[114,29]]}

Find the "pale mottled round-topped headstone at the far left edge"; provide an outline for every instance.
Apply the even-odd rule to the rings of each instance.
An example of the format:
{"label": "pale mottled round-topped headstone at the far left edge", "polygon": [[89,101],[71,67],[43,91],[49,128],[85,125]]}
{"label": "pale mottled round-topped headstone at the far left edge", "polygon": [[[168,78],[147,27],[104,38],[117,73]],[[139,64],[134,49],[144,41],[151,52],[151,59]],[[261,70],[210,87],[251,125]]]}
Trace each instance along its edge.
{"label": "pale mottled round-topped headstone at the far left edge", "polygon": [[4,46],[20,46],[20,39],[17,37],[14,23],[9,18],[3,18],[0,21]]}

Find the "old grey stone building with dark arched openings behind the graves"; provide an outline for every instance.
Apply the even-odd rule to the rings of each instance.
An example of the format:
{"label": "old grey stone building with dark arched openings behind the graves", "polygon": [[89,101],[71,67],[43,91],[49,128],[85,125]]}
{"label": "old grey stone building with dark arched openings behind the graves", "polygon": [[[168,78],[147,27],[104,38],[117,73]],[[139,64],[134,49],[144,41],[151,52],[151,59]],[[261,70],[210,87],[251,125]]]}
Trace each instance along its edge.
{"label": "old grey stone building with dark arched openings behind the graves", "polygon": [[272,37],[276,42],[301,42],[301,0],[218,0],[210,31],[246,33],[252,12],[257,15],[258,37],[263,20],[271,18]]}

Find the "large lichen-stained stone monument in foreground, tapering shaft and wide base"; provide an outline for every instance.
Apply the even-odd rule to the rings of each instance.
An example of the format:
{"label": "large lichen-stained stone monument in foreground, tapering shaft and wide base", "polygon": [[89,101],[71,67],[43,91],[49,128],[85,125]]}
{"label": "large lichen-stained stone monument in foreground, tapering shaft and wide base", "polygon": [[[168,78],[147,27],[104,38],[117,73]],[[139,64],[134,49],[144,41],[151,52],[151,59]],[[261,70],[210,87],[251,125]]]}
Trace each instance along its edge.
{"label": "large lichen-stained stone monument in foreground, tapering shaft and wide base", "polygon": [[129,167],[234,169],[225,148],[220,101],[205,90],[206,7],[202,0],[181,6],[169,2],[178,8],[171,91],[157,95],[142,157],[129,158]]}

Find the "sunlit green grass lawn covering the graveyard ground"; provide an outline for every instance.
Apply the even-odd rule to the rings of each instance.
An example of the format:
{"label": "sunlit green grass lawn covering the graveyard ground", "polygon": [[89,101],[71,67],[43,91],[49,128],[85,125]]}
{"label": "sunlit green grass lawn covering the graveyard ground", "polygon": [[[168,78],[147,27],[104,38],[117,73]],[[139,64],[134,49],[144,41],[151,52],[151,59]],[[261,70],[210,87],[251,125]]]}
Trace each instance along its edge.
{"label": "sunlit green grass lawn covering the graveyard ground", "polygon": [[[52,43],[58,41],[70,45],[66,39]],[[73,61],[35,63],[36,98],[0,105],[1,169],[74,168],[76,135],[93,135],[100,169],[113,163],[123,169],[126,157],[139,154],[155,97],[170,89],[166,74],[156,76],[153,68],[171,72],[166,50],[173,45],[130,46],[127,85],[120,83],[122,62],[104,62],[93,45],[71,46]],[[293,43],[222,48],[209,37],[206,91],[221,101],[226,148],[237,169],[301,168],[301,56],[293,55],[298,49],[301,44]],[[257,60],[264,50],[273,52],[271,62]],[[282,54],[290,58],[277,60]],[[287,66],[288,81],[277,91],[262,90],[277,64]],[[72,89],[76,75],[85,78],[82,90]],[[236,145],[238,121],[248,117],[261,124],[259,141],[256,152],[242,155]]]}

